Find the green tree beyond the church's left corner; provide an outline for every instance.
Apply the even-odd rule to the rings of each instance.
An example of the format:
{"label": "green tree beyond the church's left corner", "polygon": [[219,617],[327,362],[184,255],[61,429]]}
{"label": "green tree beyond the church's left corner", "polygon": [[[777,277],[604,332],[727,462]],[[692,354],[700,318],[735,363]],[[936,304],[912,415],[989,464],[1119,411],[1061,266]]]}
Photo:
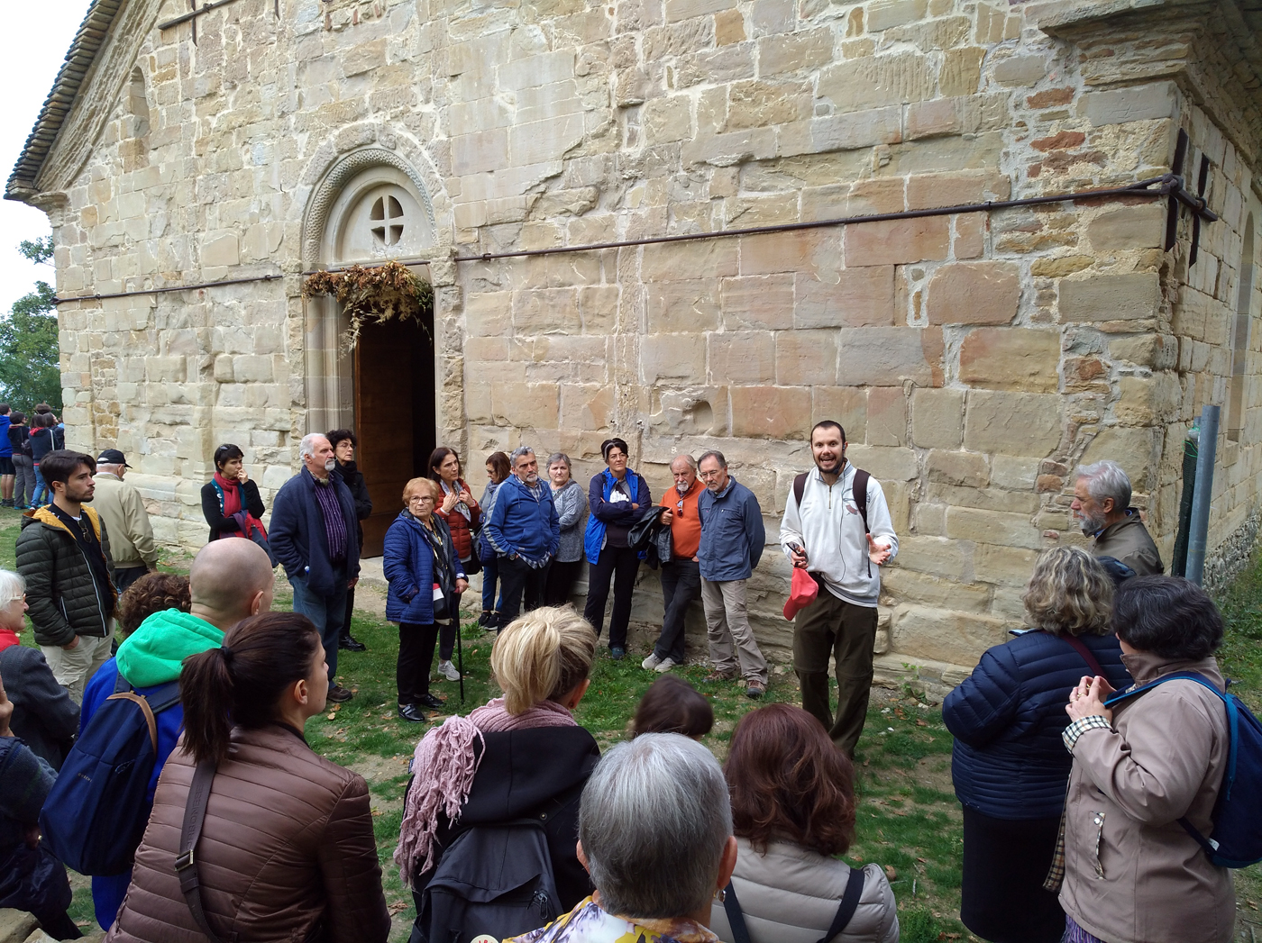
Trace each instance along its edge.
{"label": "green tree beyond the church's left corner", "polygon": [[[35,263],[48,263],[53,237],[27,240],[18,251]],[[61,350],[57,342],[57,303],[53,286],[37,281],[35,290],[13,303],[0,316],[0,397],[29,412],[37,402],[62,411]]]}

